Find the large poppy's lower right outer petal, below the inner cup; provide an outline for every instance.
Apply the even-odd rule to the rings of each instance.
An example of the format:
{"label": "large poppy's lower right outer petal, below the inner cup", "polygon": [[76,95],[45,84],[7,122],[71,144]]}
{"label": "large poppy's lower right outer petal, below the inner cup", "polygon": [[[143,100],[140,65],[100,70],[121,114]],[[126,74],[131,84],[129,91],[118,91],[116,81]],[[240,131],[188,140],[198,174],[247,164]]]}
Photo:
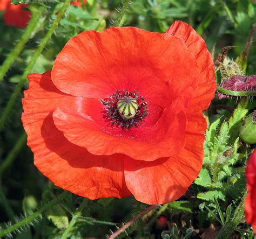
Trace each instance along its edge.
{"label": "large poppy's lower right outer petal, below the inner cup", "polygon": [[125,159],[125,182],[138,201],[167,203],[186,192],[203,163],[206,126],[202,114],[188,121],[186,144],[177,156],[153,162]]}

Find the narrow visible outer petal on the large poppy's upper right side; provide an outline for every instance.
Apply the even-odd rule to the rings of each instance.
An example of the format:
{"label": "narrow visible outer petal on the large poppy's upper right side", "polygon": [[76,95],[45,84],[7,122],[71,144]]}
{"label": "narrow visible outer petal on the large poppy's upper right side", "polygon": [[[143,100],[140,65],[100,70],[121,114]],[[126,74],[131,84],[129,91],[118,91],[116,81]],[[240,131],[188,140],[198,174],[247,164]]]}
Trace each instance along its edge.
{"label": "narrow visible outer petal on the large poppy's upper right side", "polygon": [[174,22],[166,34],[171,34],[184,41],[188,50],[196,58],[200,71],[197,93],[190,101],[190,107],[186,113],[207,109],[214,97],[216,82],[213,60],[204,39],[190,25],[181,21]]}

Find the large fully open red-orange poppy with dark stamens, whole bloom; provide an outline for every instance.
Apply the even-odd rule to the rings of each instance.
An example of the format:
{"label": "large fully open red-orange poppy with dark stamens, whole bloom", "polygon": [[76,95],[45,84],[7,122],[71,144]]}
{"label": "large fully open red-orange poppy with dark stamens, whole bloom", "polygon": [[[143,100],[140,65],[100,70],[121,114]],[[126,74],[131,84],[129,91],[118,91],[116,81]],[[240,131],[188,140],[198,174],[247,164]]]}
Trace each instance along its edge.
{"label": "large fully open red-orange poppy with dark stamens, whole bloom", "polygon": [[52,72],[28,76],[23,125],[35,165],[89,199],[131,193],[148,204],[183,195],[204,156],[214,68],[183,22],[166,33],[136,27],[85,31]]}

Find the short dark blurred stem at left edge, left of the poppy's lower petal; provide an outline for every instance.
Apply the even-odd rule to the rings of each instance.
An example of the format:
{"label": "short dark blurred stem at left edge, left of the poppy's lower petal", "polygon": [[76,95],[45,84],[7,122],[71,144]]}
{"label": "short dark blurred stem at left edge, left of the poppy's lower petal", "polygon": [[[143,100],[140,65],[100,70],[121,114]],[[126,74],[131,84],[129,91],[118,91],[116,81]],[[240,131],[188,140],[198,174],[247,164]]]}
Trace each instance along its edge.
{"label": "short dark blurred stem at left edge, left of the poppy's lower petal", "polygon": [[17,154],[19,153],[19,151],[21,151],[25,143],[26,143],[26,134],[23,133],[23,135],[19,138],[14,148],[11,150],[11,152],[8,154],[8,156],[5,158],[2,165],[0,166],[0,180],[2,179],[3,173],[6,171],[6,169],[12,165]]}

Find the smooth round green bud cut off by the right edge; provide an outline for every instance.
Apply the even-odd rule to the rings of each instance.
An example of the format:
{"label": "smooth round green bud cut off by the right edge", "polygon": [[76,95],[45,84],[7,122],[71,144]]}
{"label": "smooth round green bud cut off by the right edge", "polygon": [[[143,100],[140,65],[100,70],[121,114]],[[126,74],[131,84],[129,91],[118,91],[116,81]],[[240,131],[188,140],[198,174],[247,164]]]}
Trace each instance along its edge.
{"label": "smooth round green bud cut off by the right edge", "polygon": [[256,144],[256,110],[242,122],[240,137],[247,144]]}

